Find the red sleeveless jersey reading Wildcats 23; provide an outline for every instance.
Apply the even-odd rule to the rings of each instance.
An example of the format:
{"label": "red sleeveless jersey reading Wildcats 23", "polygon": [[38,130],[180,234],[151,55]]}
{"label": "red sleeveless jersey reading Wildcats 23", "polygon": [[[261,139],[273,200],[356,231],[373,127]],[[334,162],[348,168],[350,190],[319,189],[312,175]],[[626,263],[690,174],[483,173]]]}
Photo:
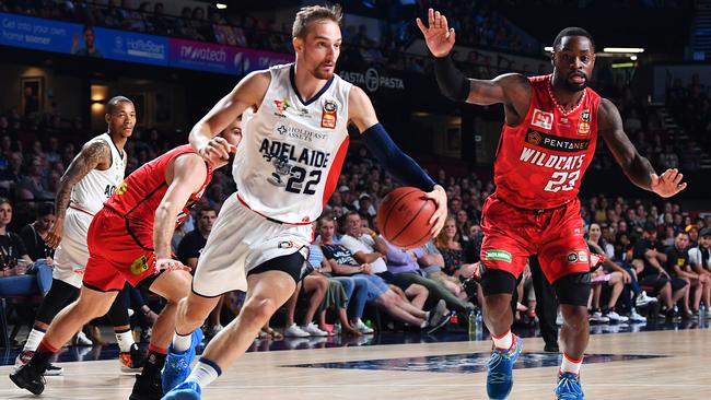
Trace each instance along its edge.
{"label": "red sleeveless jersey reading Wildcats 23", "polygon": [[552,209],[578,196],[595,154],[599,95],[585,87],[570,110],[552,94],[551,75],[532,77],[531,105],[516,127],[504,123],[493,180],[500,200],[523,209]]}

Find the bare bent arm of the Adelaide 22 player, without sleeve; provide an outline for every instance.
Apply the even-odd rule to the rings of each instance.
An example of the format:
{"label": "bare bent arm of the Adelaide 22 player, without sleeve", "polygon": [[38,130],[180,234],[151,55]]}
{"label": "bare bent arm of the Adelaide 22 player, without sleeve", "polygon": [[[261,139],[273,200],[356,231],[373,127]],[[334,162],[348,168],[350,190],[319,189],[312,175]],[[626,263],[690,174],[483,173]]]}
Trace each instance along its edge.
{"label": "bare bent arm of the Adelaide 22 player, without sleeve", "polygon": [[[223,138],[214,138],[249,107],[258,107],[269,87],[269,71],[255,71],[245,77],[226,96],[190,130],[193,149],[213,167],[223,164],[236,148]],[[214,140],[212,140],[214,138]]]}

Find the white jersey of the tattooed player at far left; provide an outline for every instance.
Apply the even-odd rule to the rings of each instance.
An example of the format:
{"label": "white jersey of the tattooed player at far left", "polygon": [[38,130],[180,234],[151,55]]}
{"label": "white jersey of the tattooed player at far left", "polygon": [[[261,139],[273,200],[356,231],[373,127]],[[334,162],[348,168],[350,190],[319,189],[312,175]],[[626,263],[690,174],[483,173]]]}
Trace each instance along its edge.
{"label": "white jersey of the tattooed player at far left", "polygon": [[105,141],[112,150],[112,166],[105,170],[92,169],[71,189],[70,205],[91,214],[97,213],[104,207],[104,201],[114,193],[126,174],[126,152],[124,156],[118,153],[108,133],[97,136],[90,143],[97,140]]}

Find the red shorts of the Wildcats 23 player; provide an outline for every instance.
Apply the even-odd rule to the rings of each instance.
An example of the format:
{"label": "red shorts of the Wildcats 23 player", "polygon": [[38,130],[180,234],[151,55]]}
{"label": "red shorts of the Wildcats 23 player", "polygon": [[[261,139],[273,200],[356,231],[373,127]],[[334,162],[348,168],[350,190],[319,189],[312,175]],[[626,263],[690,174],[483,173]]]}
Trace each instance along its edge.
{"label": "red shorts of the Wildcats 23 player", "polygon": [[537,255],[550,283],[570,273],[590,271],[580,200],[534,211],[512,207],[492,195],[481,215],[481,262],[486,268],[518,278],[528,257]]}

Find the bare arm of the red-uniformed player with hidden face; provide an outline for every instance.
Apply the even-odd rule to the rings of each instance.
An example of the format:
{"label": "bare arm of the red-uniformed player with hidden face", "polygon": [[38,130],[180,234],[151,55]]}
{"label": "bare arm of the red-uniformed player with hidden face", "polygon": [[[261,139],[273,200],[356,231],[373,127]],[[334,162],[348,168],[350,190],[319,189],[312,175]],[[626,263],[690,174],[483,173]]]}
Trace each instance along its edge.
{"label": "bare arm of the red-uniformed player with hidden face", "polygon": [[165,173],[168,188],[155,210],[153,223],[156,264],[161,260],[171,259],[171,238],[175,232],[175,221],[190,195],[200,189],[208,173],[205,161],[193,153],[178,156],[172,164]]}

